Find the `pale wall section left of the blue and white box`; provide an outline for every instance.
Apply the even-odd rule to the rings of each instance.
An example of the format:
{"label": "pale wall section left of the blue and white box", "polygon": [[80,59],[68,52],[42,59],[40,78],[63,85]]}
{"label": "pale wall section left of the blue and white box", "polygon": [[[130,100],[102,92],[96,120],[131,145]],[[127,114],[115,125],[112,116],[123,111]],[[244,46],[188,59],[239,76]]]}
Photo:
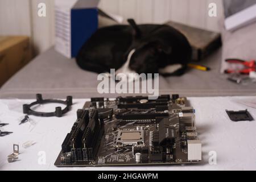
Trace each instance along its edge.
{"label": "pale wall section left of the blue and white box", "polygon": [[[38,4],[46,3],[47,17],[38,16]],[[0,35],[30,36],[34,54],[54,44],[53,0],[0,0]]]}

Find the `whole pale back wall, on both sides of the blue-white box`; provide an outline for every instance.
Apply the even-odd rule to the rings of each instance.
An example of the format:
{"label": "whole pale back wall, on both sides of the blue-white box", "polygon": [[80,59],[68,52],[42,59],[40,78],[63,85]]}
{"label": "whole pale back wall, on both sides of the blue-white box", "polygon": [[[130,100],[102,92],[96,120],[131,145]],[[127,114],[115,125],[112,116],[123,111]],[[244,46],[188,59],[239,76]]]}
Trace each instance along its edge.
{"label": "whole pale back wall, on both sides of the blue-white box", "polygon": [[[85,0],[86,1],[86,0]],[[47,17],[37,15],[38,3],[47,5]],[[208,16],[208,5],[217,3],[218,16]],[[101,0],[100,8],[109,13],[134,18],[138,23],[164,23],[174,20],[207,30],[218,31],[222,0]],[[28,35],[35,53],[54,44],[53,0],[0,0],[0,35]]]}

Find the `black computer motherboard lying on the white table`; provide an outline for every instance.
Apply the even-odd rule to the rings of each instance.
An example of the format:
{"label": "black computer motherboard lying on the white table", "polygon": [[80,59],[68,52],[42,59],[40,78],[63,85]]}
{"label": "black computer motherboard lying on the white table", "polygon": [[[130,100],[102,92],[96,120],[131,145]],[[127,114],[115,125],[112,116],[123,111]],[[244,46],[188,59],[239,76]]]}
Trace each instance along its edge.
{"label": "black computer motherboard lying on the white table", "polygon": [[57,167],[199,163],[195,110],[186,97],[91,98],[61,145]]}

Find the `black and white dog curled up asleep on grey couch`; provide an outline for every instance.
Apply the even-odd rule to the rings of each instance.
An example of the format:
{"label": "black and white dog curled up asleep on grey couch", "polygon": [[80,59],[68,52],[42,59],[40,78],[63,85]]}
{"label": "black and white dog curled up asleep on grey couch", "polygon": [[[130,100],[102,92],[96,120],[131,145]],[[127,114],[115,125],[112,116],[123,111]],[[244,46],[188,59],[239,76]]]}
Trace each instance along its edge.
{"label": "black and white dog curled up asleep on grey couch", "polygon": [[87,71],[182,75],[192,57],[185,36],[167,25],[141,24],[98,29],[82,46],[77,64]]}

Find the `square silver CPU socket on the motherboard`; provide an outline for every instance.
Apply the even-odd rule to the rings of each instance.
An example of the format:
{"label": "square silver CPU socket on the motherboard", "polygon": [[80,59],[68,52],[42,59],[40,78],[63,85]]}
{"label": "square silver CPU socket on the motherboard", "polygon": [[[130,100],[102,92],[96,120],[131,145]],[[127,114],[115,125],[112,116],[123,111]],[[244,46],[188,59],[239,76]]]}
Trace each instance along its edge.
{"label": "square silver CPU socket on the motherboard", "polygon": [[144,143],[144,130],[118,130],[114,147],[135,146]]}

